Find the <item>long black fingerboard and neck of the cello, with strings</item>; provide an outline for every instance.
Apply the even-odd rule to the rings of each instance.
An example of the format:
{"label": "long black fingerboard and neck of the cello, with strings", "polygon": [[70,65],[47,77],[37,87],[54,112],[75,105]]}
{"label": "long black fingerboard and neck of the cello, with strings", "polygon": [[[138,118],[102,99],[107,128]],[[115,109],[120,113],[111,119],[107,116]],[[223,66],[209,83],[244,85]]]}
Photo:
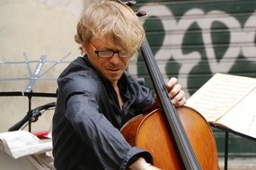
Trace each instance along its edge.
{"label": "long black fingerboard and neck of the cello, with strings", "polygon": [[168,97],[168,90],[166,89],[165,82],[163,81],[163,76],[156,64],[154,54],[147,39],[143,42],[141,51],[146,62],[147,70],[153,82],[155,92],[158,95],[160,105],[162,106],[167,127],[172,133],[177,144],[185,168],[193,170],[201,169],[199,161],[195,156],[194,151],[191,149],[190,141],[183,129],[180,117],[176,114],[176,109],[172,105],[171,99]]}

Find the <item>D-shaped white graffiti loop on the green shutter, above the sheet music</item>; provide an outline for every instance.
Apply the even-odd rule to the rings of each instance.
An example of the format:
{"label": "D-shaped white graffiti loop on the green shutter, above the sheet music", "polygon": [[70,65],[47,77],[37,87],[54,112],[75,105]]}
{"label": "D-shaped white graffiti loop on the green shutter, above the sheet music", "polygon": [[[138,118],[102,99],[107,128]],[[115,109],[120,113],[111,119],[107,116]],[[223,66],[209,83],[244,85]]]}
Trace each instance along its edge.
{"label": "D-shaped white graffiti loop on the green shutter, above the sheet music", "polygon": [[[233,28],[235,28],[235,31],[230,31],[229,47],[227,48],[224,56],[219,62],[216,61],[216,54],[210,33],[214,21],[224,23],[229,30],[233,30]],[[233,46],[238,42],[237,38],[241,38],[243,34],[239,21],[235,20],[234,17],[224,12],[212,11],[205,14],[203,16],[203,21],[199,20],[198,24],[200,29],[202,29],[203,42],[205,44],[207,58],[210,61],[209,66],[211,72],[219,72],[220,70],[222,70],[222,72],[228,72],[234,64],[236,57],[239,55],[239,52],[241,51],[241,47]],[[228,60],[228,64],[222,62],[223,60]]]}

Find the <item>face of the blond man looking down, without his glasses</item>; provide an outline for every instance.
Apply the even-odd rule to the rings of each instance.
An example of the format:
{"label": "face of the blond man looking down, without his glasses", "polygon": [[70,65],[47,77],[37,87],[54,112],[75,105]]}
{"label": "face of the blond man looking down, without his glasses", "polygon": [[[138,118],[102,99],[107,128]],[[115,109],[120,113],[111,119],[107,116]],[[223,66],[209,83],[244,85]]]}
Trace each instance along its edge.
{"label": "face of the blond man looking down, without his glasses", "polygon": [[121,51],[108,38],[93,38],[90,43],[84,45],[83,49],[93,66],[99,72],[102,72],[102,75],[111,81],[112,84],[119,81],[123,72],[128,67],[129,58],[119,57],[118,53],[115,53],[110,58],[101,58],[95,53],[95,50]]}

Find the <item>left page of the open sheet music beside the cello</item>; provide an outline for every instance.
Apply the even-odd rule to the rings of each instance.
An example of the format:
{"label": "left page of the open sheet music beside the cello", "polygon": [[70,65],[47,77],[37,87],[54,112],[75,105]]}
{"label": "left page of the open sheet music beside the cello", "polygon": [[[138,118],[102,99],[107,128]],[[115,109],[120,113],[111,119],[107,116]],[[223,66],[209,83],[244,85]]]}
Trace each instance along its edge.
{"label": "left page of the open sheet music beside the cello", "polygon": [[255,79],[216,73],[188,99],[186,106],[199,111],[208,122],[216,122],[254,87]]}

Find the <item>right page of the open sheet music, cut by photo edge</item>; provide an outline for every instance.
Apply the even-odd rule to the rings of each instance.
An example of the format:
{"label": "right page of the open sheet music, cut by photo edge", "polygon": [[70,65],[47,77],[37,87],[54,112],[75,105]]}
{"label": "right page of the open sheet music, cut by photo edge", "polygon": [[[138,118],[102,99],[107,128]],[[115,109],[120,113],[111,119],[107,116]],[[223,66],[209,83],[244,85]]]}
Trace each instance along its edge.
{"label": "right page of the open sheet music, cut by photo edge", "polygon": [[256,139],[256,88],[217,123]]}

